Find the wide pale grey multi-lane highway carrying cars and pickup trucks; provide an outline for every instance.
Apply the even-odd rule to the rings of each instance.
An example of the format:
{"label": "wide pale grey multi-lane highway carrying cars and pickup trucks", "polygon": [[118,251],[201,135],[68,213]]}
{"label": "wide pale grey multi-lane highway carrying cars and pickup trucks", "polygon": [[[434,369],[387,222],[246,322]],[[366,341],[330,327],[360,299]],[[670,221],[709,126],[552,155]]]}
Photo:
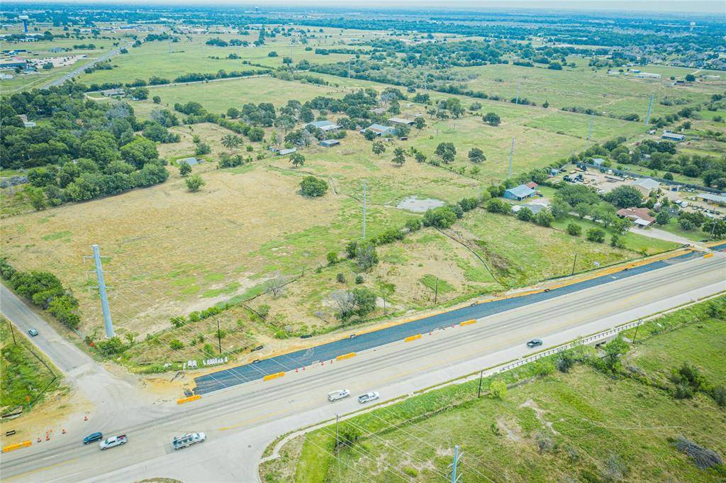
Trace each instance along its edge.
{"label": "wide pale grey multi-lane highway carrying cars and pickup trucks", "polygon": [[[132,482],[151,476],[253,482],[257,458],[275,437],[359,407],[354,398],[330,405],[328,391],[377,390],[383,399],[399,397],[526,355],[524,342],[532,336],[556,345],[724,291],[725,274],[725,253],[666,265],[414,342],[379,346],[350,360],[217,391],[187,405],[145,407],[138,423],[109,418],[104,432],[129,435],[128,445],[100,452],[81,445],[82,434],[67,435],[52,445],[4,455],[0,471],[3,481],[12,482]],[[205,431],[209,441],[174,452],[169,441],[184,431]]]}

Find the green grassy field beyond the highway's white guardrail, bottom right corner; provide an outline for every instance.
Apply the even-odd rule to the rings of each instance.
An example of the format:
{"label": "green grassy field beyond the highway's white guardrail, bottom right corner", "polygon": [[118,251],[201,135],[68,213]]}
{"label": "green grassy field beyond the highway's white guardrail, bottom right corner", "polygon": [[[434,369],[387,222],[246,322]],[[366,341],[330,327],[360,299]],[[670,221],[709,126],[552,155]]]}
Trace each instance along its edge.
{"label": "green grassy field beyond the highway's white guardrail, bottom right corner", "polygon": [[[687,360],[706,381],[723,384],[724,361],[714,355],[726,341],[725,325],[723,317],[705,313],[709,304],[663,317],[666,326],[671,319],[688,324],[631,348],[624,365],[648,376],[660,371],[664,378]],[[542,366],[526,365],[503,377],[521,381],[541,372]],[[486,380],[485,387],[491,381]],[[698,468],[674,445],[685,437],[725,452],[722,408],[706,394],[675,399],[654,385],[612,378],[589,365],[535,377],[511,387],[501,399],[476,399],[477,382],[421,394],[343,421],[343,438],[353,434],[359,439],[338,451],[333,450],[334,424],[293,439],[282,448],[282,458],[261,467],[263,481],[323,482],[338,476],[355,481],[365,474],[374,482],[439,482],[452,461],[454,445],[464,451],[459,468],[464,481],[470,482],[722,479],[722,470]],[[440,410],[455,402],[459,404]]]}

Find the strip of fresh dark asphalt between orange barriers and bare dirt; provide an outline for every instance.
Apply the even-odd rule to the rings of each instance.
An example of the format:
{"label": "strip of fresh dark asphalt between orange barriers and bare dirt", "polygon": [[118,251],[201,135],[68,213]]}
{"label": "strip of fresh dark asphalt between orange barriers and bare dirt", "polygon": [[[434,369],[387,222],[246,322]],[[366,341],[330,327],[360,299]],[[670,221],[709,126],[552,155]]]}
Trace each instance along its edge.
{"label": "strip of fresh dark asphalt between orange barriers and bare dirt", "polygon": [[[725,245],[726,247],[726,245]],[[716,248],[716,247],[714,247]],[[713,248],[712,248],[713,249]],[[282,371],[294,370],[303,366],[311,365],[317,361],[327,362],[335,359],[339,355],[348,354],[350,352],[361,352],[373,347],[382,346],[395,341],[401,341],[409,336],[415,336],[420,333],[427,333],[442,327],[450,327],[465,320],[478,319],[488,315],[505,312],[507,310],[516,309],[529,304],[535,304],[539,301],[553,299],[563,296],[567,293],[582,291],[586,288],[603,285],[603,283],[620,280],[633,275],[638,275],[651,270],[667,267],[677,261],[701,256],[698,253],[686,253],[685,255],[676,256],[671,259],[654,261],[650,264],[633,267],[627,271],[620,271],[609,275],[583,280],[582,282],[573,283],[560,288],[553,288],[549,292],[531,293],[523,296],[515,296],[509,299],[489,301],[483,304],[462,307],[443,314],[436,314],[423,319],[405,322],[392,327],[375,330],[374,332],[364,333],[354,338],[345,338],[340,341],[333,341],[327,344],[314,346],[309,349],[291,352],[290,354],[282,354],[269,359],[251,362],[249,364],[240,365],[236,368],[220,370],[216,373],[207,374],[195,378],[196,387],[195,394],[208,394],[213,391],[219,391],[229,386],[236,386],[257,379],[264,378],[268,374],[279,373]]]}

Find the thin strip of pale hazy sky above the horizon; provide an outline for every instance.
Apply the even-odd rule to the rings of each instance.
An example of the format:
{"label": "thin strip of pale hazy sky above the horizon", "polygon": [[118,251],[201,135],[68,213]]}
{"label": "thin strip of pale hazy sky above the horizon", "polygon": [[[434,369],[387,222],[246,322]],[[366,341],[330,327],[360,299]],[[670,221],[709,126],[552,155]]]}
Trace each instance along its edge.
{"label": "thin strip of pale hazy sky above the horizon", "polygon": [[[5,0],[7,3],[33,3],[32,1]],[[365,9],[406,8],[412,9],[578,9],[578,10],[627,10],[646,12],[714,13],[726,21],[726,0],[39,0],[42,3],[82,4],[133,4],[143,5],[234,5],[238,7],[257,5],[290,7],[346,7]]]}

